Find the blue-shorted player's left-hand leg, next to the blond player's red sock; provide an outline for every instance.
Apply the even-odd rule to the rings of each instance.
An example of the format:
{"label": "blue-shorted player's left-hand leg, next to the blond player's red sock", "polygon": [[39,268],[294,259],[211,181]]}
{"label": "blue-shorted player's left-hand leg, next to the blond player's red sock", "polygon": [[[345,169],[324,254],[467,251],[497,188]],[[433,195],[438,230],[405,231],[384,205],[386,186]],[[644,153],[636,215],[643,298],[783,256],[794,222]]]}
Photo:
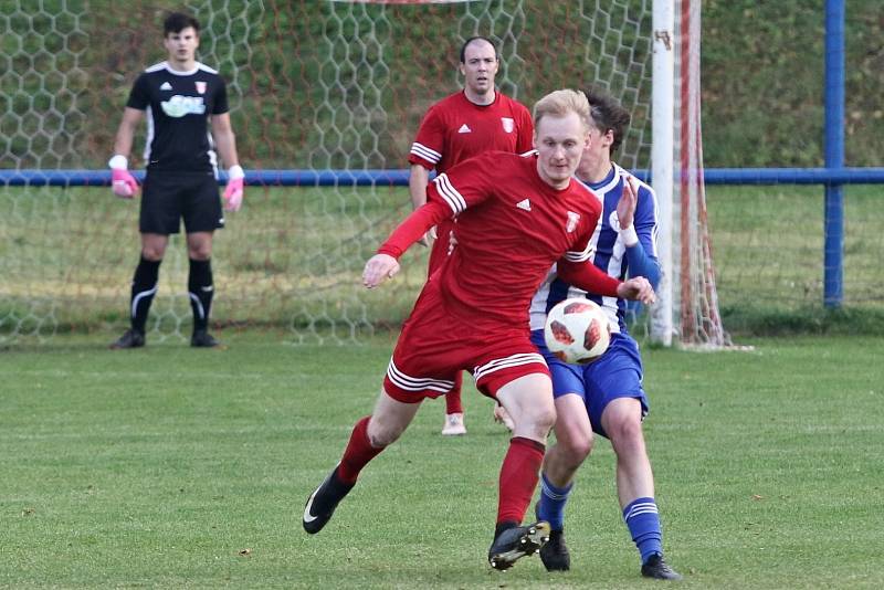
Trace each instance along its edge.
{"label": "blue-shorted player's left-hand leg, next to the blond player's red sock", "polygon": [[592,451],[592,426],[583,398],[567,393],[556,398],[556,444],[546,453],[540,477],[537,518],[551,527],[540,559],[549,571],[565,571],[571,557],[565,544],[565,505],[573,488],[573,476]]}

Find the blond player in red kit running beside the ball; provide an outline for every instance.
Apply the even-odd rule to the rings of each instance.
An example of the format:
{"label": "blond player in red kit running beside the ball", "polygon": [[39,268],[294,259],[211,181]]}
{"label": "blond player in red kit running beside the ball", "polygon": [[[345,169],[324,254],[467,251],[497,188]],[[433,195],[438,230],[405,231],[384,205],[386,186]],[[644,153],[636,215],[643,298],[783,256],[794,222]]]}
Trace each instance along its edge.
{"label": "blond player in red kit running beside the ball", "polygon": [[356,423],[340,463],[307,498],[307,533],[323,529],[362,467],[404,432],[420,402],[446,393],[457,371],[469,370],[515,424],[501,467],[488,561],[507,569],[548,539],[548,523],[520,525],[556,419],[549,370],[530,341],[532,295],[552,263],[569,283],[593,293],[644,303],[654,294],[645,278],[621,283],[587,263],[601,206],[572,179],[589,140],[586,96],[556,91],[537,103],[534,122],[537,157],[493,151],[440,175],[428,203],[366,263],[362,283],[373,288],[399,271],[397,259],[409,245],[457,215],[457,245],[406,320],[375,410]]}

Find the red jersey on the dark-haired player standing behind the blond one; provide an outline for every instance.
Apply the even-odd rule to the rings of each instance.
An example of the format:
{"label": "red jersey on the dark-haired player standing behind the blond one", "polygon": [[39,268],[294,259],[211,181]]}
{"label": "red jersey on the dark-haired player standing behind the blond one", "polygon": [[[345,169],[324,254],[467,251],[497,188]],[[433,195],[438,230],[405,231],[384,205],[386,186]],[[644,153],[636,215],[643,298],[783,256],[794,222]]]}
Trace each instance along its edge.
{"label": "red jersey on the dark-haired player standing behind the blond one", "polygon": [[408,161],[441,173],[485,151],[530,151],[533,136],[532,115],[522,103],[496,92],[494,102],[482,106],[461,91],[430,107]]}

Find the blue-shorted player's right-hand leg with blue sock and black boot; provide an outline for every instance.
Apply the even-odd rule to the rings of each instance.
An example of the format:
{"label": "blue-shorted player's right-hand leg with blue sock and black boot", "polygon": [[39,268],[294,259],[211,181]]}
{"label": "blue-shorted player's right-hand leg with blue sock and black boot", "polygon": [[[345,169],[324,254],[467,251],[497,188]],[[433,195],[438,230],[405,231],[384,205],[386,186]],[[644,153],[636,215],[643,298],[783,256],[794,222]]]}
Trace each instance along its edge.
{"label": "blue-shorted player's right-hand leg with blue sock and black boot", "polygon": [[654,475],[642,433],[638,399],[612,400],[601,415],[602,428],[617,454],[617,493],[623,520],[642,559],[642,575],[681,579],[663,560],[663,534],[654,501]]}

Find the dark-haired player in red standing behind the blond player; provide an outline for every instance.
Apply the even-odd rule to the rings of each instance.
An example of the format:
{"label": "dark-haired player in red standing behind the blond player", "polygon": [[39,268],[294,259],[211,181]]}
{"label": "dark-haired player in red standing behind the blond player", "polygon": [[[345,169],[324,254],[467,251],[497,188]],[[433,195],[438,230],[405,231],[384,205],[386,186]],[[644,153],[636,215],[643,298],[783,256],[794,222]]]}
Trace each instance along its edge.
{"label": "dark-haired player in red standing behind the blond player", "polygon": [[[534,124],[522,103],[494,87],[501,59],[488,39],[473,36],[461,48],[460,71],[463,91],[435,103],[427,112],[411,146],[409,192],[414,209],[427,202],[430,171],[448,172],[467,158],[499,150],[526,154],[533,149]],[[431,276],[449,253],[449,235],[453,219],[442,220],[422,239],[432,244],[427,275]],[[439,236],[439,240],[434,238]],[[466,434],[461,403],[463,373],[454,378],[454,387],[445,394],[444,435]]]}

